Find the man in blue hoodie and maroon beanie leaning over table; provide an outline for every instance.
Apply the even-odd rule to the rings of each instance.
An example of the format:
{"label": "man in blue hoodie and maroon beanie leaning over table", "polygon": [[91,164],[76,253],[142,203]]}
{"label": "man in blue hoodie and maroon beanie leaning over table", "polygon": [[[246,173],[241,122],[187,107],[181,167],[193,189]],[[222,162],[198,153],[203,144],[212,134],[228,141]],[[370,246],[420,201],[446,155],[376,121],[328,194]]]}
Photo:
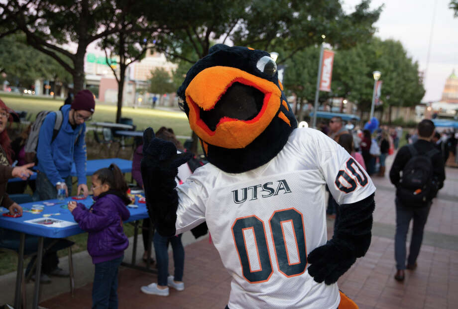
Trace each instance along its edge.
{"label": "man in blue hoodie and maroon beanie leaning over table", "polygon": [[71,105],[61,108],[62,126],[52,141],[56,113],[49,113],[43,121],[38,138],[37,158],[38,175],[36,190],[40,200],[57,197],[57,189],[64,188],[66,196],[71,193],[72,177],[70,172],[75,162],[78,176],[78,195],[88,196],[86,185],[86,124],[94,113],[94,95],[89,90],[80,91]]}

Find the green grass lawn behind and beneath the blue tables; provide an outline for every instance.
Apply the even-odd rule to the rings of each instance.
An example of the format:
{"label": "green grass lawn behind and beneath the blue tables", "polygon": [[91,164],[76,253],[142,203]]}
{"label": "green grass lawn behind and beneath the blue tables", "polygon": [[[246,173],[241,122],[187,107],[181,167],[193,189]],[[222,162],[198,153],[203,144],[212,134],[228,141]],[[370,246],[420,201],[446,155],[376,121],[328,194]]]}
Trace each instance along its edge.
{"label": "green grass lawn behind and beneath the blue tables", "polygon": [[[14,110],[25,110],[27,113],[32,114],[31,120],[33,121],[36,114],[41,110],[58,110],[63,104],[61,100],[33,98],[29,96],[13,96],[13,95],[0,95],[1,100],[10,108]],[[96,103],[96,111],[92,121],[113,121],[116,116],[116,106],[103,103]],[[174,110],[161,110],[150,108],[122,108],[122,117],[133,119],[133,123],[137,126],[137,130],[143,130],[151,126],[154,130],[158,130],[161,126],[171,127],[176,135],[191,136],[191,128],[189,127],[188,119],[184,112]],[[89,122],[89,125],[91,123]],[[12,136],[10,136],[12,137]],[[101,151],[101,146],[93,140],[92,135],[86,139],[88,148],[88,158],[104,158],[107,154]],[[183,141],[183,140],[182,140]],[[113,152],[112,152],[113,153]],[[130,159],[132,149],[125,147],[120,151],[118,157]],[[130,173],[126,173],[126,179],[130,181]],[[91,177],[87,177],[88,187],[91,186]],[[26,193],[31,194],[30,188]],[[72,188],[72,195],[76,195],[76,185]],[[124,224],[124,231],[127,236],[133,235],[133,226]],[[74,235],[68,237],[75,242],[73,252],[80,252],[86,250],[87,233]],[[67,255],[67,250],[58,252],[59,256]],[[27,265],[24,265],[24,267]],[[13,272],[16,270],[17,259],[14,254],[0,252],[0,275]]]}

